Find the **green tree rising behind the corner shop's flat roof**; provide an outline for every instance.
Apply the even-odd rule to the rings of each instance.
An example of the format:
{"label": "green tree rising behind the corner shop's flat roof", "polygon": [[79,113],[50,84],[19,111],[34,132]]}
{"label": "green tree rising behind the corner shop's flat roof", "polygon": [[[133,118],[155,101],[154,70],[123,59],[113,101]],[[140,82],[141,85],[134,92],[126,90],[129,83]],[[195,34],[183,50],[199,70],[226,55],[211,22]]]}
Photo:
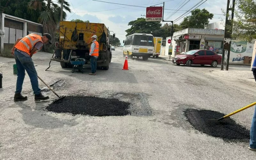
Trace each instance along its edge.
{"label": "green tree rising behind the corner shop's flat roof", "polygon": [[191,15],[187,16],[180,23],[183,29],[186,28],[204,28],[204,23],[209,23],[209,19],[213,18],[213,14],[206,9],[195,9],[191,11]]}

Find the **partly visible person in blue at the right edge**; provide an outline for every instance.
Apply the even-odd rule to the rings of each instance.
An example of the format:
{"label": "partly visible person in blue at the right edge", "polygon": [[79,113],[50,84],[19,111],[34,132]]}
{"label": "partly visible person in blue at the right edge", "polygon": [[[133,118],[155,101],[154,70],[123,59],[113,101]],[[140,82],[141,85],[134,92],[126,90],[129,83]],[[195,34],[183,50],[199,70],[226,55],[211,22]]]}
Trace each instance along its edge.
{"label": "partly visible person in blue at the right edge", "polygon": [[[253,64],[252,64],[252,73],[254,76],[254,79],[256,81],[256,57],[254,58]],[[252,117],[252,126],[250,130],[250,150],[256,151],[256,107],[254,110],[254,115]]]}

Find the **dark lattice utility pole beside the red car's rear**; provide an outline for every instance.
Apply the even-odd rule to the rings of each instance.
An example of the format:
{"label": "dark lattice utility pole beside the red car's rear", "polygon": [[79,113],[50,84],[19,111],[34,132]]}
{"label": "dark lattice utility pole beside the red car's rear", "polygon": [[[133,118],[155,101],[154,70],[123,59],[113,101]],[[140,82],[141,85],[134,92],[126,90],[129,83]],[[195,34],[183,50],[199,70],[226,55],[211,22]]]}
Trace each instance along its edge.
{"label": "dark lattice utility pole beside the red car's rear", "polygon": [[[223,43],[222,59],[221,59],[221,70],[224,70],[224,66],[225,66],[225,70],[227,71],[228,71],[228,65],[229,65],[230,45],[231,45],[231,38],[232,38],[231,22],[234,18],[234,10],[235,10],[235,0],[228,0],[225,31],[224,31],[224,43]],[[226,60],[225,60],[225,56],[227,56]]]}

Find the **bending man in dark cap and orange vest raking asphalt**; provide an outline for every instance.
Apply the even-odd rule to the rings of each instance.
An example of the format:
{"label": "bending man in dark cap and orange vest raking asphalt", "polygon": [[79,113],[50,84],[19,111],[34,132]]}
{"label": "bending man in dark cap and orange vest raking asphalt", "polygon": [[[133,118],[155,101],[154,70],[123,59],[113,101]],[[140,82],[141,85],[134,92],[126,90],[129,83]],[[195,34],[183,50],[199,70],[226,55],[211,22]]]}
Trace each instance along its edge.
{"label": "bending man in dark cap and orange vest raking asphalt", "polygon": [[37,34],[29,34],[24,38],[19,38],[12,47],[12,55],[14,55],[17,65],[17,82],[14,101],[25,101],[27,96],[21,94],[23,80],[25,78],[25,70],[28,73],[32,89],[35,94],[35,100],[47,100],[48,96],[41,94],[41,89],[38,86],[37,72],[34,66],[32,56],[37,51],[41,50],[44,44],[52,44],[52,36],[48,33],[43,36]]}

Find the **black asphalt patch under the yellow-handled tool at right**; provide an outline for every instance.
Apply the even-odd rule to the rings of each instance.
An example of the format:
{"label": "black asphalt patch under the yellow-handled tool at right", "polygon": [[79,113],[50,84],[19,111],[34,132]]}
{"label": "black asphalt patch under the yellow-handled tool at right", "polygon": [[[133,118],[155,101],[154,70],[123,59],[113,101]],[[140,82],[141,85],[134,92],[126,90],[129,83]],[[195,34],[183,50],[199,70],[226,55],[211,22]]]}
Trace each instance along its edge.
{"label": "black asphalt patch under the yellow-handled tool at right", "polygon": [[186,109],[184,111],[188,122],[200,132],[207,135],[220,137],[225,141],[249,142],[250,131],[237,124],[231,118],[218,122],[215,119],[223,117],[224,114],[211,110]]}

